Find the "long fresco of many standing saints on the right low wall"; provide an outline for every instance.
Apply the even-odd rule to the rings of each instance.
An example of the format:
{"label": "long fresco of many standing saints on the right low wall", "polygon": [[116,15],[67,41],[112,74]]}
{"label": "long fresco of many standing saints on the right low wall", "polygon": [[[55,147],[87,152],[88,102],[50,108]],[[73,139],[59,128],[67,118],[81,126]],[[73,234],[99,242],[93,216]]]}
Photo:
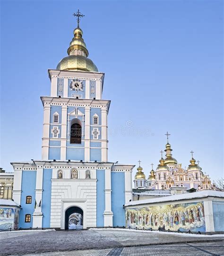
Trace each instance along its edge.
{"label": "long fresco of many standing saints on the right low wall", "polygon": [[126,227],[206,231],[203,202],[126,209]]}

